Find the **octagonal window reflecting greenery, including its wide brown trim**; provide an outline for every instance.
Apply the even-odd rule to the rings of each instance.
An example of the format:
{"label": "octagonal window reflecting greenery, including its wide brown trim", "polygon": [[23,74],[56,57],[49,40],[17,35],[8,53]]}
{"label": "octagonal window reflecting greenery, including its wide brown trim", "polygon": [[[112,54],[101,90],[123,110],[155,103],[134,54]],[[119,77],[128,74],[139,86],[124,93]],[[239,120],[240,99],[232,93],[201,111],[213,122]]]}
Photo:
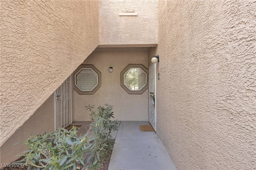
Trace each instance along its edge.
{"label": "octagonal window reflecting greenery, including its wide brown trim", "polygon": [[147,75],[143,64],[128,64],[120,73],[120,84],[128,94],[142,94],[148,88]]}

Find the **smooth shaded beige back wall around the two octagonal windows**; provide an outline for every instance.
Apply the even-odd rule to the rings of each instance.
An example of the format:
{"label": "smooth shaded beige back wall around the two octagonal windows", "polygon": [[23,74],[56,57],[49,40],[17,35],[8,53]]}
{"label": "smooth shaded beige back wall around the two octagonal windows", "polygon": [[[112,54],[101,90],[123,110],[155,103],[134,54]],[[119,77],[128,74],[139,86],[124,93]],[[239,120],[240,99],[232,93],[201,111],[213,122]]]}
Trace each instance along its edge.
{"label": "smooth shaded beige back wall around the two octagonal windows", "polygon": [[[111,104],[115,119],[118,121],[148,121],[148,89],[143,94],[128,94],[120,86],[120,72],[128,64],[144,64],[148,67],[148,52],[143,49],[138,51],[93,52],[84,64],[93,64],[102,76],[100,89],[93,95],[79,95],[75,90],[73,98],[74,121],[90,121],[89,111],[85,106],[104,106]],[[147,49],[147,48],[146,48]],[[108,49],[105,49],[108,51]],[[108,71],[113,67],[113,72]]]}

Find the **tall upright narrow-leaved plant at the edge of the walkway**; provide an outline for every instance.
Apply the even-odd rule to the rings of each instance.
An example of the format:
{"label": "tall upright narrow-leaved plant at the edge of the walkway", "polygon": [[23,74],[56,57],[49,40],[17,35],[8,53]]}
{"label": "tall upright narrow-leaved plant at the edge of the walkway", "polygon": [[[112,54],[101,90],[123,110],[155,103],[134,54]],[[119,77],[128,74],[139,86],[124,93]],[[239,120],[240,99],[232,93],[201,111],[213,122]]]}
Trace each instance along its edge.
{"label": "tall upright narrow-leaved plant at the edge of the walkway", "polygon": [[108,155],[110,150],[112,150],[112,136],[111,131],[116,131],[118,129],[117,120],[112,121],[110,118],[114,118],[114,112],[112,107],[108,104],[105,106],[99,106],[97,109],[94,109],[94,106],[86,106],[90,110],[90,117],[92,119],[91,128],[94,131],[94,145],[95,147],[92,150],[92,159],[97,163],[102,163]]}

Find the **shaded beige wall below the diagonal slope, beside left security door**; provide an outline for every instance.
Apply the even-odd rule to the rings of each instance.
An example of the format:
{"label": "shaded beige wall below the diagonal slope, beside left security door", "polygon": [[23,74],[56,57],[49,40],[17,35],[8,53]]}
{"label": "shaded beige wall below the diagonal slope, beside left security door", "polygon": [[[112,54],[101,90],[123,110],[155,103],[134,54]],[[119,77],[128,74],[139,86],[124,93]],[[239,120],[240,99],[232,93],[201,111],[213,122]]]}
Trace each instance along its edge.
{"label": "shaded beige wall below the diagonal slope, beside left security door", "polygon": [[[24,147],[31,133],[33,135],[43,134],[44,132],[54,131],[54,96],[53,94],[40,106],[36,112],[25,123],[8,138],[8,140],[0,147],[0,165],[4,166],[11,163],[19,157],[18,154],[28,150]],[[14,145],[19,143],[18,145]],[[2,167],[1,166],[1,167]]]}

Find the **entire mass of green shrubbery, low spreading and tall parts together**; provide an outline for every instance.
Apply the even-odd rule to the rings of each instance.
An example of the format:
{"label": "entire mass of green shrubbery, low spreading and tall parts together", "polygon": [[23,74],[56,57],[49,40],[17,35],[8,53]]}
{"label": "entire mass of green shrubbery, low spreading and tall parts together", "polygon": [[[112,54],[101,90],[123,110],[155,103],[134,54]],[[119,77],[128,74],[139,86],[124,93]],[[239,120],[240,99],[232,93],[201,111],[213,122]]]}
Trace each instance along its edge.
{"label": "entire mass of green shrubbery, low spreading and tall parts together", "polygon": [[76,170],[84,165],[94,170],[100,168],[112,150],[110,132],[118,128],[117,121],[110,120],[113,106],[106,106],[96,110],[88,106],[92,118],[89,131],[94,132],[94,137],[88,138],[88,133],[78,137],[76,127],[70,131],[58,128],[52,133],[31,136],[25,141],[29,150],[18,155],[24,158],[14,163],[22,163],[28,166],[28,170]]}

